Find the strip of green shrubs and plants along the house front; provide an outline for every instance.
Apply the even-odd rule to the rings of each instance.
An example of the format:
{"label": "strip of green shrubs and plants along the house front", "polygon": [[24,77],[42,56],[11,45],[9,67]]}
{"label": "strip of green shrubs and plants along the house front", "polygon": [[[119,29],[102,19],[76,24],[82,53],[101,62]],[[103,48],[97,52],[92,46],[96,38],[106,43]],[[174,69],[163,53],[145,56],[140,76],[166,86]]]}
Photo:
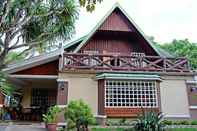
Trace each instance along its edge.
{"label": "strip of green shrubs and plants along the house front", "polygon": [[143,109],[137,119],[107,119],[105,126],[97,124],[90,107],[82,100],[70,101],[63,111],[66,128],[57,127],[58,114],[62,112],[59,107],[53,106],[43,114],[48,131],[197,131],[197,120],[168,120],[162,113]]}

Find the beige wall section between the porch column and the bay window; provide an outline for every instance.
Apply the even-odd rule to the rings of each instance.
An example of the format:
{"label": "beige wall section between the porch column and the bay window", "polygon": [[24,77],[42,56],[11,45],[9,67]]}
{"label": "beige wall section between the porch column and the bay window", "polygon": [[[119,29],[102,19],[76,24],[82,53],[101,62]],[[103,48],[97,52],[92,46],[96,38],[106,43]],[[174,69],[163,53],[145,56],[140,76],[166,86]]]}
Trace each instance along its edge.
{"label": "beige wall section between the porch column and the bay window", "polygon": [[59,74],[60,79],[68,80],[68,102],[84,100],[92,109],[94,115],[98,112],[98,82],[95,74]]}

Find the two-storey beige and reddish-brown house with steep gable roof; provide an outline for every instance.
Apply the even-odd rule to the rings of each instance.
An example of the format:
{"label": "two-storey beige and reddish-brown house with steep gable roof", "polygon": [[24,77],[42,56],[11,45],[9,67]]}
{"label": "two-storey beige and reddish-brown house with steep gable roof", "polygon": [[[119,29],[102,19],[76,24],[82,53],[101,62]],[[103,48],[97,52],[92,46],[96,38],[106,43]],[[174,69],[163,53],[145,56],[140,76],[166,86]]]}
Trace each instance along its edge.
{"label": "two-storey beige and reddish-brown house with steep gable roof", "polygon": [[136,117],[141,107],[197,118],[196,72],[186,58],[151,43],[119,4],[88,35],[4,71],[31,114],[83,99],[100,120]]}

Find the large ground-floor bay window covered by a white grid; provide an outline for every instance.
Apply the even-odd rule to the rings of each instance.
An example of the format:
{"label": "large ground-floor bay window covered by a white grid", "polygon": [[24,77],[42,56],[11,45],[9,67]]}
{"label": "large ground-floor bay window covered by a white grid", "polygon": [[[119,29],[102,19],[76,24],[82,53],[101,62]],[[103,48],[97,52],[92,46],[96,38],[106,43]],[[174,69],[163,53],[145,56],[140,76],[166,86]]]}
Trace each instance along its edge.
{"label": "large ground-floor bay window covered by a white grid", "polygon": [[158,107],[156,81],[105,81],[105,107]]}

